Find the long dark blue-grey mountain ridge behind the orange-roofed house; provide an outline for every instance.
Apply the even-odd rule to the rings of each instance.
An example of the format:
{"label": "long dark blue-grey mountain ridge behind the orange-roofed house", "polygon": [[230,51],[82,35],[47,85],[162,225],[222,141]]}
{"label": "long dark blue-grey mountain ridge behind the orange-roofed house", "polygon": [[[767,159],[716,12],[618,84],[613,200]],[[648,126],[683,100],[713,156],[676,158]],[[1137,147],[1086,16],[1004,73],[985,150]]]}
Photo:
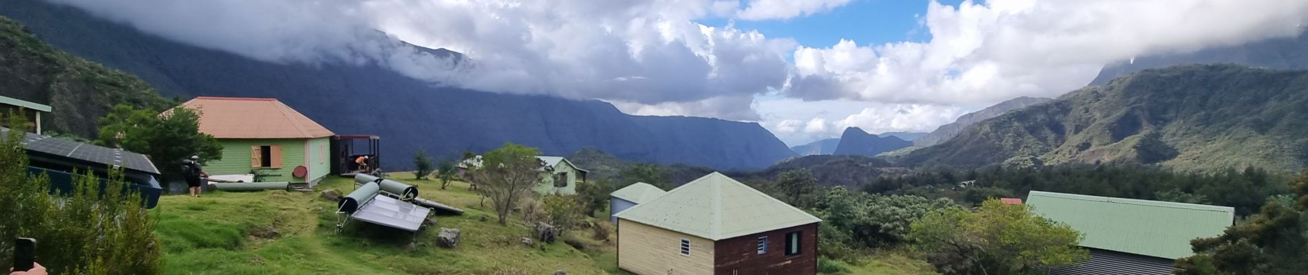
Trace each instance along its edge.
{"label": "long dark blue-grey mountain ridge behind the orange-roofed house", "polygon": [[[275,64],[182,44],[39,0],[0,3],[47,43],[139,76],[171,98],[277,98],[336,133],[382,136],[387,168],[419,149],[432,155],[488,151],[505,142],[565,155],[596,147],[624,159],[715,168],[763,168],[794,152],[756,123],[646,117],[610,103],[434,87],[377,64]],[[437,50],[430,50],[437,51]],[[734,137],[697,139],[697,133]]]}

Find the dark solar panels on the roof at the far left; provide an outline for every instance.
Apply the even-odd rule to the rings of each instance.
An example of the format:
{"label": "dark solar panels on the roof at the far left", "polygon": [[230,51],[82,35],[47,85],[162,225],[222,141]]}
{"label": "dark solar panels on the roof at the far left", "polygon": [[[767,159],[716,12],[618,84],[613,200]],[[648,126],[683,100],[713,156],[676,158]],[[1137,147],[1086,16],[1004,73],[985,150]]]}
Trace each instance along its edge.
{"label": "dark solar panels on the roof at the far left", "polygon": [[[7,138],[9,133],[8,128],[0,128],[0,138]],[[145,155],[123,151],[119,149],[110,149],[103,146],[95,146],[90,143],[76,142],[64,138],[54,138],[50,136],[41,136],[33,133],[25,133],[24,147],[29,151],[38,151],[50,155],[85,160],[90,163],[99,163],[111,167],[122,167],[127,169],[135,169],[148,173],[160,173],[154,163],[145,158]]]}

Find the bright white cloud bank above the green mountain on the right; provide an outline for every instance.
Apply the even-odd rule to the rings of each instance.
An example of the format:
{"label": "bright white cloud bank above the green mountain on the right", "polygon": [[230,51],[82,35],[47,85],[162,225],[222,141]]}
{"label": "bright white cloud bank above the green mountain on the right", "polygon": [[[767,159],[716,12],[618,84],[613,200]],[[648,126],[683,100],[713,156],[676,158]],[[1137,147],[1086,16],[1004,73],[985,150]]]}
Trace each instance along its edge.
{"label": "bright white cloud bank above the green mountain on the right", "polygon": [[931,1],[926,43],[795,50],[787,95],[884,103],[974,104],[1057,96],[1107,63],[1288,36],[1308,1]]}

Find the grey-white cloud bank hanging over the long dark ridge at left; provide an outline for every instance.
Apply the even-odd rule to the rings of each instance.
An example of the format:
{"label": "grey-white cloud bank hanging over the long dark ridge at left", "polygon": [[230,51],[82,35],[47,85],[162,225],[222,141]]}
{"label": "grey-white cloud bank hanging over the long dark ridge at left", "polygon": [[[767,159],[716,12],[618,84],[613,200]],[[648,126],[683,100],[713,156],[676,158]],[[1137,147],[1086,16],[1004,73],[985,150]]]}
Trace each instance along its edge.
{"label": "grey-white cloud bank hanging over the long dark ridge at left", "polygon": [[[781,89],[790,72],[785,56],[795,47],[791,39],[692,21],[734,9],[713,0],[52,1],[266,61],[377,63],[467,89],[688,104],[680,108],[687,111]],[[472,61],[455,66],[400,39]],[[757,117],[736,112],[749,100],[731,102],[743,106],[698,113]]]}

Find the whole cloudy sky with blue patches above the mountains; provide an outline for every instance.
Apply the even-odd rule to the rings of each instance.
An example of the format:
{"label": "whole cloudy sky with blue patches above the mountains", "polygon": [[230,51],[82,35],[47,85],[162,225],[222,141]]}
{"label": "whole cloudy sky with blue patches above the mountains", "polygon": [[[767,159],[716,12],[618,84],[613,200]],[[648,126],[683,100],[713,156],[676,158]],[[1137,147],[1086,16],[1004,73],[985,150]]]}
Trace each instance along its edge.
{"label": "whole cloudy sky with blue patches above the mountains", "polygon": [[[756,121],[787,145],[930,132],[1104,64],[1299,35],[1301,0],[48,0],[272,63]],[[408,42],[463,52],[454,63]]]}

